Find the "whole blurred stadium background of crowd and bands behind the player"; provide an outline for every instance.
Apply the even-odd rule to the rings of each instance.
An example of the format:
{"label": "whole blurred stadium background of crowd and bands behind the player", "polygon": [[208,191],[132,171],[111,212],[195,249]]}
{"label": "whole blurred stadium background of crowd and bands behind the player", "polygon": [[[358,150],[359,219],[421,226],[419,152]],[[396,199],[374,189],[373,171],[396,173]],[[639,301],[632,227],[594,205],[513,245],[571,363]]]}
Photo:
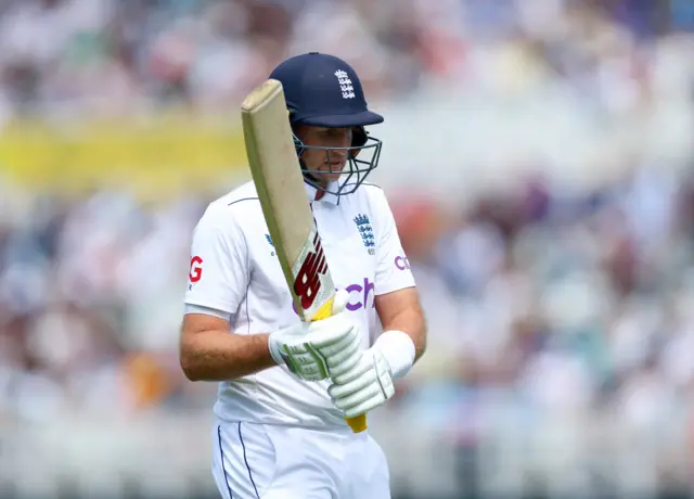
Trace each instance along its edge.
{"label": "whole blurred stadium background of crowd and bands behind the player", "polygon": [[[239,104],[349,61],[428,353],[376,411],[394,497],[694,490],[694,2],[0,1],[0,498],[216,497],[179,372]],[[364,498],[368,499],[368,498]]]}

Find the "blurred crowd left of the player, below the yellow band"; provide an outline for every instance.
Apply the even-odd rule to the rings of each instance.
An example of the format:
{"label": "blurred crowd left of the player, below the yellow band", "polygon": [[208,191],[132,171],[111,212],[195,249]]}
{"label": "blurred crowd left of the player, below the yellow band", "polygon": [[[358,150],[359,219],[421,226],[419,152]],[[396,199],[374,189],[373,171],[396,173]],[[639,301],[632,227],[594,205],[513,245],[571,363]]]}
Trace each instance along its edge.
{"label": "blurred crowd left of the player, below the yellow band", "polygon": [[171,396],[203,200],[0,192],[0,420],[127,414]]}

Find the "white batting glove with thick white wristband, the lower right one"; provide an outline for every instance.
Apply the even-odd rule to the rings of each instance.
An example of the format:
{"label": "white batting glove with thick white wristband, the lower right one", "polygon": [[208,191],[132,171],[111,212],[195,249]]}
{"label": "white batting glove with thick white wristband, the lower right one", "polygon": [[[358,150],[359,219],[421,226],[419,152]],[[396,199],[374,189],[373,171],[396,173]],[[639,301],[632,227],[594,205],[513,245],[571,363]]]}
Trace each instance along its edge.
{"label": "white batting glove with thick white wristband, the lower right one", "polygon": [[383,333],[350,371],[333,376],[327,388],[335,407],[346,418],[363,414],[395,395],[394,378],[401,378],[414,362],[414,343],[401,331]]}

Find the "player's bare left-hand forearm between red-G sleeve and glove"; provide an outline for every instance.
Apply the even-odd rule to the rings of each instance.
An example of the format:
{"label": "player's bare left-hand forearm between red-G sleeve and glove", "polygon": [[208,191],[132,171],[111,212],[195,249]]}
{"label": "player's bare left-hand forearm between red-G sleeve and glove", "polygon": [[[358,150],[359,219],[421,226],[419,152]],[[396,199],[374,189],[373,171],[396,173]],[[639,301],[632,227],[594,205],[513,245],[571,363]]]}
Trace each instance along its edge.
{"label": "player's bare left-hand forearm between red-G sleeve and glove", "polygon": [[277,366],[268,334],[242,336],[228,331],[205,331],[181,338],[180,361],[191,381],[226,381]]}

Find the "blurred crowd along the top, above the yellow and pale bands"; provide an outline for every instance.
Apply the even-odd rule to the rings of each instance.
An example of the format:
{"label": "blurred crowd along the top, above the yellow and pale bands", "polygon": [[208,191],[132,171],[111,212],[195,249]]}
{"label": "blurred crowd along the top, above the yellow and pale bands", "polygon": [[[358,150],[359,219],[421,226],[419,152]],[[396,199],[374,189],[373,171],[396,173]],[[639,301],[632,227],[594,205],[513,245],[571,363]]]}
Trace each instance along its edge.
{"label": "blurred crowd along the top, above the yellow and pale bands", "polygon": [[[3,0],[0,117],[235,107],[286,55],[317,48],[350,61],[372,100],[422,80],[466,81],[498,65],[494,48],[526,79],[551,72],[579,91],[614,87],[639,78],[650,41],[691,24],[679,3]],[[633,89],[620,93],[628,101]]]}

